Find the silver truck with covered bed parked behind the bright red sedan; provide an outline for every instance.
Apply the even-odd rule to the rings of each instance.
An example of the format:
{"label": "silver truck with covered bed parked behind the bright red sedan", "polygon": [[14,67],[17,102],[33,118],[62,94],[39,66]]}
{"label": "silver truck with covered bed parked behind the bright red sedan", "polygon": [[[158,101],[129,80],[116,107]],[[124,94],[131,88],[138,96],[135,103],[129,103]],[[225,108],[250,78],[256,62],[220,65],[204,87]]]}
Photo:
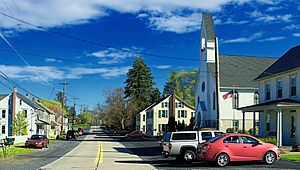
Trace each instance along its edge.
{"label": "silver truck with covered bed parked behind the bright red sedan", "polygon": [[192,162],[196,159],[199,143],[224,134],[221,131],[178,131],[167,132],[162,139],[162,157],[175,156],[177,160]]}

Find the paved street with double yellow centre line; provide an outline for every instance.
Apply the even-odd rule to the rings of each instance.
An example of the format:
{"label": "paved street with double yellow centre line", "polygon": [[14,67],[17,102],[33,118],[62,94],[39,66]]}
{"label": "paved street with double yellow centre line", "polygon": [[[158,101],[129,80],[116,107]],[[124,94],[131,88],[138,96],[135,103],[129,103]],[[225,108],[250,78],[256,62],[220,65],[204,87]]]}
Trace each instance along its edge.
{"label": "paved street with double yellow centre line", "polygon": [[[194,162],[185,164],[174,158],[161,158],[159,141],[129,141],[93,128],[91,133],[72,151],[41,167],[52,169],[220,169],[214,164]],[[278,161],[268,166],[261,162],[232,163],[227,169],[300,169],[300,164]]]}

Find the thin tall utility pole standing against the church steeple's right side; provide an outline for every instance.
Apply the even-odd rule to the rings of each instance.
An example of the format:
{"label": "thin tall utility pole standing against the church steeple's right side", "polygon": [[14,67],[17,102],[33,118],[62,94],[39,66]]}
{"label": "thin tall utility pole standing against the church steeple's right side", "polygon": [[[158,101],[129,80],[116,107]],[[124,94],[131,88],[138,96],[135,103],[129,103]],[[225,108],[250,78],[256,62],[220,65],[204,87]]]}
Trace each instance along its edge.
{"label": "thin tall utility pole standing against the church steeple's right side", "polygon": [[216,76],[216,112],[217,112],[217,122],[216,129],[220,129],[220,104],[219,104],[219,94],[220,94],[220,77],[219,77],[219,57],[218,57],[218,43],[217,37],[215,37],[215,76]]}

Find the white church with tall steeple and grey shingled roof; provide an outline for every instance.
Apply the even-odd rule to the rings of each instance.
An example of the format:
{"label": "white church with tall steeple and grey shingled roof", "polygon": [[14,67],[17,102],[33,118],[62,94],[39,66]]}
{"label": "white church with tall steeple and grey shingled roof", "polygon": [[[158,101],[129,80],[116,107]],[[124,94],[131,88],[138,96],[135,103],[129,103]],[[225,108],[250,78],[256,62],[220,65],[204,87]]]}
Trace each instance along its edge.
{"label": "white church with tall steeple and grey shingled roof", "polygon": [[[242,112],[237,108],[258,103],[259,84],[253,79],[276,58],[219,55],[218,38],[210,14],[202,15],[200,42],[200,71],[195,94],[196,125],[222,131],[242,129]],[[232,97],[223,99],[230,91]],[[247,130],[257,124],[258,114],[246,115]]]}

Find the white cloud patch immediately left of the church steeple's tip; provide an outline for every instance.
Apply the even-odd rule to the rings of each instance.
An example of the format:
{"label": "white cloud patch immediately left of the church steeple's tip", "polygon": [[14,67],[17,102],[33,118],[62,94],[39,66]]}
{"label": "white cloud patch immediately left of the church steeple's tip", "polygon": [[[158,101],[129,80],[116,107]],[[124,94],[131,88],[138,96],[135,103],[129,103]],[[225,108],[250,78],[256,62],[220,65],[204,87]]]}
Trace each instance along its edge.
{"label": "white cloud patch immediately left of the church steeple's tip", "polygon": [[176,33],[193,32],[200,29],[201,14],[193,13],[187,16],[180,15],[161,15],[149,18],[149,27],[160,31]]}

